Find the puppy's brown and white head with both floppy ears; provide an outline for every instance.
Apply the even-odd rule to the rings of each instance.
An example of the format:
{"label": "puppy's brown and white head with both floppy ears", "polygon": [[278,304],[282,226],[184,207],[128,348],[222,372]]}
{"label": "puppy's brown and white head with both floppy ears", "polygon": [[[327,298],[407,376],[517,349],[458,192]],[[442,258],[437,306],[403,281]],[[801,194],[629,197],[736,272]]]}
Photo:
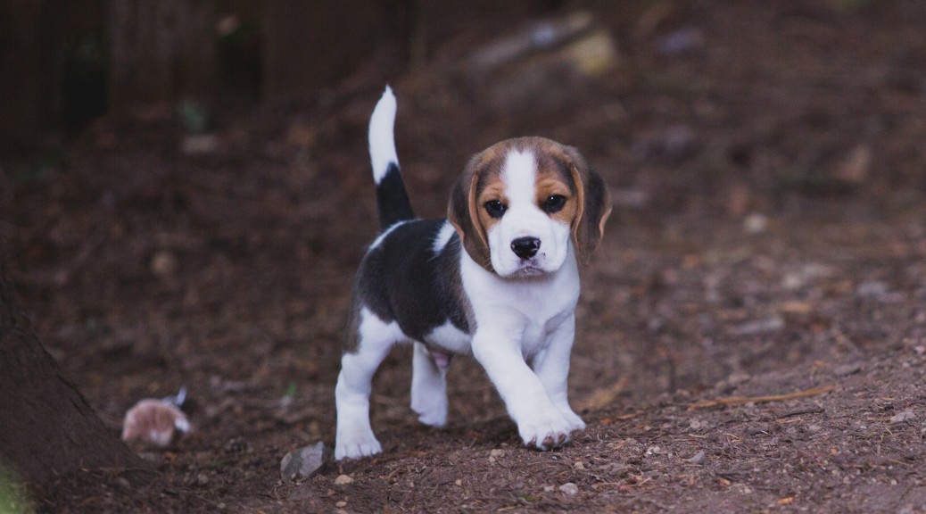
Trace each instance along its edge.
{"label": "puppy's brown and white head with both floppy ears", "polygon": [[469,160],[447,218],[483,268],[526,277],[559,270],[569,244],[587,262],[610,212],[605,183],[578,151],[525,137],[494,144]]}

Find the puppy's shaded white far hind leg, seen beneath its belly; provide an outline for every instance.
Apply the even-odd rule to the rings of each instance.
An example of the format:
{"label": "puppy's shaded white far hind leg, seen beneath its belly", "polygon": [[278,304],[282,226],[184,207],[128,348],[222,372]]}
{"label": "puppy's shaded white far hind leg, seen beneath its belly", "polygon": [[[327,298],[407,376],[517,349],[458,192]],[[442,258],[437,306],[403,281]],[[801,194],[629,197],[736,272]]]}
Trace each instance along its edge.
{"label": "puppy's shaded white far hind leg, seen beneath its belly", "polygon": [[411,408],[432,427],[447,423],[447,360],[438,366],[428,347],[418,341],[412,350]]}

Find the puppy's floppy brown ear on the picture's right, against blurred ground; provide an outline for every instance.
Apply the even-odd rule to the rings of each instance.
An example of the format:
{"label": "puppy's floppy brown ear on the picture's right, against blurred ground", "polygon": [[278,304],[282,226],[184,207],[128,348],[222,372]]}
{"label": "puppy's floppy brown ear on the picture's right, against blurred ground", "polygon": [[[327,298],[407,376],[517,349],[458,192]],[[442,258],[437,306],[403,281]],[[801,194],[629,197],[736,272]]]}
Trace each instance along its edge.
{"label": "puppy's floppy brown ear on the picture's right, against blurred ground", "polygon": [[566,156],[571,161],[569,172],[575,182],[579,209],[572,221],[572,243],[582,264],[588,264],[592,252],[605,235],[605,223],[611,215],[611,195],[607,184],[601,176],[589,168],[588,163],[571,146],[564,147]]}

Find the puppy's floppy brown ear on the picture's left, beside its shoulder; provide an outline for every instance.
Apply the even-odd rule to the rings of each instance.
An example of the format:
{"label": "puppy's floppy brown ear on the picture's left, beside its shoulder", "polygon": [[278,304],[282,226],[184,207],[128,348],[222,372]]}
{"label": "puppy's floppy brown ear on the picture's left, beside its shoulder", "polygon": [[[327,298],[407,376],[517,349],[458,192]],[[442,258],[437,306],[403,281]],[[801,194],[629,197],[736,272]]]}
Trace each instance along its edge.
{"label": "puppy's floppy brown ear on the picture's left, beside its shoulder", "polygon": [[482,158],[469,159],[466,169],[454,186],[447,205],[447,219],[457,229],[463,248],[482,268],[492,271],[492,257],[489,254],[489,240],[479,220],[476,205],[477,187],[482,174]]}

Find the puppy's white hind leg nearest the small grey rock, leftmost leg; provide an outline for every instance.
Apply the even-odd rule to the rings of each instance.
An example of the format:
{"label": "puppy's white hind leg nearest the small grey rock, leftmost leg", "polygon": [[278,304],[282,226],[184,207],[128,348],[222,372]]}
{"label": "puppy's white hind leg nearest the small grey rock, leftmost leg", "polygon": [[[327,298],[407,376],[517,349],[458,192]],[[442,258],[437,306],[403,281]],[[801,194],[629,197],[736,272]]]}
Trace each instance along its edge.
{"label": "puppy's white hind leg nearest the small grey rock, leftmost leg", "polygon": [[362,458],[382,452],[369,423],[371,382],[389,350],[403,339],[395,323],[365,315],[358,328],[356,352],[341,357],[341,373],[334,388],[337,429],[334,458]]}

